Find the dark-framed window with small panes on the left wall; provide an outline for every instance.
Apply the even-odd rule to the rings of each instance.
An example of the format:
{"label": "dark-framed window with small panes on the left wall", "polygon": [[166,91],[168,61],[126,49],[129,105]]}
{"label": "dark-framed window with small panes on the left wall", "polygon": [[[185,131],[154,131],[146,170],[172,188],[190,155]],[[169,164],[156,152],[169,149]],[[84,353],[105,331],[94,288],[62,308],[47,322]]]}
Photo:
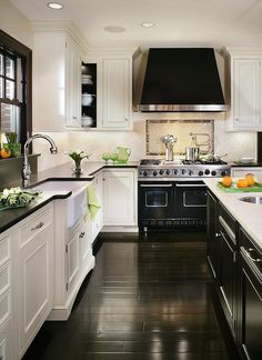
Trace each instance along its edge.
{"label": "dark-framed window with small panes on the left wall", "polygon": [[0,130],[16,131],[22,144],[32,130],[29,48],[0,30]]}

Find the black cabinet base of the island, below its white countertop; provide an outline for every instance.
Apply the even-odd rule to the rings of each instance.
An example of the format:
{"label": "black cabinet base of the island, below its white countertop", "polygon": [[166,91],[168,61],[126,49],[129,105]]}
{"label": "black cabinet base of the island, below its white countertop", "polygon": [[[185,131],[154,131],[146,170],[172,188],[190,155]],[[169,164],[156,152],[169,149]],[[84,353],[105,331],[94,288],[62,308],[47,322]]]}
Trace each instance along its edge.
{"label": "black cabinet base of the island, below its white countertop", "polygon": [[208,229],[208,261],[239,354],[262,359],[261,248],[211,192]]}

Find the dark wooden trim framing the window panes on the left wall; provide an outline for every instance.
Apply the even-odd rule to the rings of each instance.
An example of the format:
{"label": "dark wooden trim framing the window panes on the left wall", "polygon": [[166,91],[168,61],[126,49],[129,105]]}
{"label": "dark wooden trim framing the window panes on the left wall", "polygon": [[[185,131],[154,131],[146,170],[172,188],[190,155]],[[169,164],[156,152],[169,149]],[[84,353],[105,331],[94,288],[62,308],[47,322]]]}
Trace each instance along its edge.
{"label": "dark wooden trim framing the window panes on the left wall", "polygon": [[[23,62],[26,87],[23,87],[24,106],[21,107],[21,143],[24,144],[28,137],[32,134],[32,50],[1,29],[0,46],[8,49],[10,54],[13,53],[21,57]],[[6,100],[4,102],[8,103]],[[10,103],[13,103],[13,101]]]}

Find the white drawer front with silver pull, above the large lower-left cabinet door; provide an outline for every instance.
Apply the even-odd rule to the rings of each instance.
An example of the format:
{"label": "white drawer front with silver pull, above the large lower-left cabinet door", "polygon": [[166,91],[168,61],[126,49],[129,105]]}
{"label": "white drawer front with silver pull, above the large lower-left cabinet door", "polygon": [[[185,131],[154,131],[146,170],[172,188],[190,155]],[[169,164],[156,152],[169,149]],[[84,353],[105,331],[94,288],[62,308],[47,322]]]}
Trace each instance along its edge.
{"label": "white drawer front with silver pull, above the large lower-left cabinet door", "polygon": [[19,229],[20,248],[23,248],[52,223],[52,210],[47,209]]}

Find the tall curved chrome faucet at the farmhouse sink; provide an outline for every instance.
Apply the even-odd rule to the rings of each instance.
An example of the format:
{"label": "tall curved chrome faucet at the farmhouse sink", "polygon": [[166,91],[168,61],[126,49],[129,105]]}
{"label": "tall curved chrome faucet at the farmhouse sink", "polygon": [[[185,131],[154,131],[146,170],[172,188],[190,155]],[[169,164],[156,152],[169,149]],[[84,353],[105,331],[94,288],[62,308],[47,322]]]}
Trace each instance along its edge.
{"label": "tall curved chrome faucet at the farmhouse sink", "polygon": [[41,134],[41,133],[36,133],[34,136],[32,136],[31,138],[29,138],[23,147],[23,163],[22,163],[22,187],[26,188],[30,184],[30,176],[31,176],[31,168],[30,168],[30,163],[28,161],[28,148],[29,144],[32,142],[33,139],[46,139],[49,141],[49,143],[51,144],[50,151],[51,153],[58,153],[58,148],[54,143],[54,141],[46,134]]}

